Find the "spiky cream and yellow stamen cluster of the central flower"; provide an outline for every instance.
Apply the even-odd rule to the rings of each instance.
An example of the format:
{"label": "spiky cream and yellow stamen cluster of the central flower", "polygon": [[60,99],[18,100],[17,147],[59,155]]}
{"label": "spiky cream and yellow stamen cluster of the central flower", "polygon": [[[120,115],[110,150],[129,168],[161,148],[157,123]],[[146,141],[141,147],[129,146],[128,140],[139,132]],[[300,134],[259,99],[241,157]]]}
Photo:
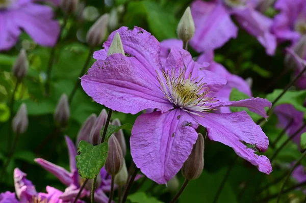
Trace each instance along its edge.
{"label": "spiky cream and yellow stamen cluster of the central flower", "polygon": [[163,71],[162,77],[158,74],[157,79],[161,84],[160,90],[175,107],[194,114],[197,114],[196,111],[205,112],[214,109],[210,103],[217,100],[207,96],[210,91],[206,83],[201,82],[203,78],[191,78],[191,74],[186,78],[183,69],[176,76],[176,70],[173,69],[171,75]]}

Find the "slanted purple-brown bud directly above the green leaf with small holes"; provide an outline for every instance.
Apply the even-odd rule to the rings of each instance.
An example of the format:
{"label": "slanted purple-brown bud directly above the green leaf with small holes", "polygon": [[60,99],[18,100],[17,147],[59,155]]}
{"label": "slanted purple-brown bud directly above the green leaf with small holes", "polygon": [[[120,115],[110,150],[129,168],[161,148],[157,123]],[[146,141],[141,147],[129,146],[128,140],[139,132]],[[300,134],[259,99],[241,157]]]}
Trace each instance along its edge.
{"label": "slanted purple-brown bud directly above the green leaf with small holes", "polygon": [[90,134],[89,134],[89,143],[91,144],[99,144],[101,143],[101,135],[100,131],[105,126],[107,120],[107,112],[105,109],[103,109],[98,118],[95,120],[93,127],[91,128]]}

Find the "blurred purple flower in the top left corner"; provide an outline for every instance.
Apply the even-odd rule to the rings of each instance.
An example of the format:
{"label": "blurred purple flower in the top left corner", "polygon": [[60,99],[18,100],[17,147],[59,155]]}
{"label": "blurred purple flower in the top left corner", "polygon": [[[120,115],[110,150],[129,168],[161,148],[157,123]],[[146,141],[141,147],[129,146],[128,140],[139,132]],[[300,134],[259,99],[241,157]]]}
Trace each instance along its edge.
{"label": "blurred purple flower in the top left corner", "polygon": [[[53,19],[52,8],[35,4],[34,0],[0,2],[0,51],[11,49],[24,30],[38,44],[54,46],[60,27]],[[53,0],[55,4],[57,1]]]}

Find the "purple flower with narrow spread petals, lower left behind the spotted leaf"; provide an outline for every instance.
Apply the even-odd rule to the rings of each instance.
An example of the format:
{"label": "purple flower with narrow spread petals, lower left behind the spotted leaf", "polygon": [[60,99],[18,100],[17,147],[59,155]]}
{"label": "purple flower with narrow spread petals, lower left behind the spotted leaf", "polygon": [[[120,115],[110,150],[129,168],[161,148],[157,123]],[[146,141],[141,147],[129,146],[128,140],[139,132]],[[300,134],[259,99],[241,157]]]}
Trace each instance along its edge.
{"label": "purple flower with narrow spread petals, lower left behind the spotted leaf", "polygon": [[[75,149],[74,143],[68,136],[65,136],[66,143],[68,146],[69,160],[70,160],[70,172],[61,166],[50,163],[44,159],[38,158],[35,161],[45,168],[47,171],[53,173],[64,185],[68,186],[60,198],[63,200],[74,199],[80,189],[85,179],[79,176],[78,168],[75,162],[75,157],[77,156],[77,149]],[[84,196],[90,196],[90,190],[92,186],[92,180],[88,181],[85,189],[82,191],[80,198]],[[105,192],[111,190],[111,176],[108,175],[105,168],[103,167],[96,182],[96,190],[94,195],[95,202],[106,203],[109,198],[106,196]]]}

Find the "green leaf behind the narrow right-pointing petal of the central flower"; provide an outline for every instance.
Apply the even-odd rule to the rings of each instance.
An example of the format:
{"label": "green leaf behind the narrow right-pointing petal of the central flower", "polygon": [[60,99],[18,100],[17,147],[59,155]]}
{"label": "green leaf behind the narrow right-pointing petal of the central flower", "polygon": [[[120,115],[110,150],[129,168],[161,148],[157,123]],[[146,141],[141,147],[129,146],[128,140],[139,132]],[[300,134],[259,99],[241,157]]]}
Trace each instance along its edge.
{"label": "green leaf behind the narrow right-pointing petal of the central flower", "polygon": [[[248,95],[240,92],[236,88],[233,88],[231,95],[230,95],[230,101],[239,101],[239,100],[248,99],[248,98],[250,98]],[[245,107],[230,107],[230,109],[232,112],[246,111],[250,115],[250,117],[253,119],[254,122],[262,118],[259,114],[254,113]]]}

